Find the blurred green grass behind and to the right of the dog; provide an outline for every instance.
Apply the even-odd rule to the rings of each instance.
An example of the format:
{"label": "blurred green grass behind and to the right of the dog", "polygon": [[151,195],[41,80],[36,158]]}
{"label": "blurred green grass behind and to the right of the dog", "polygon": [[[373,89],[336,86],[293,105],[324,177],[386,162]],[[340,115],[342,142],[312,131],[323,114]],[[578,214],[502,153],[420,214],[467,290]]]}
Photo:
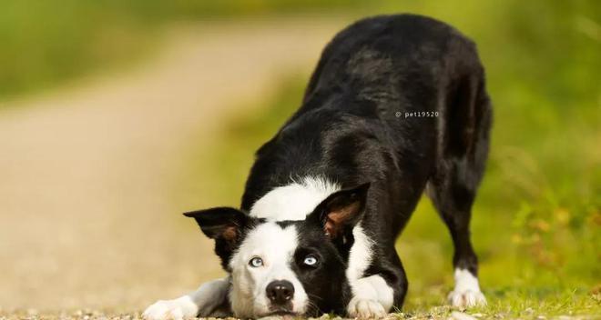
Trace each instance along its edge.
{"label": "blurred green grass behind and to the right of the dog", "polygon": [[[489,305],[482,317],[601,315],[601,26],[596,2],[477,1],[382,4],[438,17],[474,38],[494,102],[493,145],[472,231]],[[451,6],[449,6],[451,5]],[[293,74],[293,73],[291,73]],[[205,190],[238,205],[253,152],[299,106],[307,75],[282,81],[263,112],[238,115],[213,155],[221,184]],[[240,110],[247,108],[240,107]],[[258,110],[258,108],[248,108]],[[197,157],[198,158],[198,157]],[[410,279],[402,317],[446,317],[453,247],[427,199],[397,249]]]}

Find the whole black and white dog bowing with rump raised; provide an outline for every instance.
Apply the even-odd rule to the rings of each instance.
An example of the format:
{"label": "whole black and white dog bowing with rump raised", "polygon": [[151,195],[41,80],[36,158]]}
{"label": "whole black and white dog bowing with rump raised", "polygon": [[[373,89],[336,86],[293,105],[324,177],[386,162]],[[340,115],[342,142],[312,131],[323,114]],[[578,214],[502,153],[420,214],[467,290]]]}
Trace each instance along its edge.
{"label": "whole black and white dog bowing with rump raised", "polygon": [[418,15],[347,27],[257,152],[240,208],[185,214],[229,276],[144,316],[382,317],[407,292],[394,244],[424,190],[453,238],[450,303],[484,304],[469,225],[491,121],[475,45],[453,27]]}

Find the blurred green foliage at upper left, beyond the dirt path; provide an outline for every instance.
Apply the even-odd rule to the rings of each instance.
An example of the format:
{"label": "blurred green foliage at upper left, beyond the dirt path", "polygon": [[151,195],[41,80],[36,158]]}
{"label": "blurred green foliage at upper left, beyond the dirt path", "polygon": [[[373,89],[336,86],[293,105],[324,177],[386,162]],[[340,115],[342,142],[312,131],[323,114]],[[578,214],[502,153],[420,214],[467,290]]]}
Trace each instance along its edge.
{"label": "blurred green foliage at upper left, beyond the dirt path", "polygon": [[125,65],[148,52],[168,22],[339,8],[359,1],[4,0],[0,98]]}

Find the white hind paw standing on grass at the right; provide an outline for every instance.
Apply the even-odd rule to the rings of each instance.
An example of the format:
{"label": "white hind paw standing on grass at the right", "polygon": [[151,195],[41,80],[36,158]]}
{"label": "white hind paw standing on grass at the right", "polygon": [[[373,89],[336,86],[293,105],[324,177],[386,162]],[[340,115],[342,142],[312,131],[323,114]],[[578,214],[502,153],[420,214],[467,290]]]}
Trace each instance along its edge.
{"label": "white hind paw standing on grass at the right", "polygon": [[474,305],[486,305],[486,298],[480,291],[478,278],[466,269],[455,269],[455,288],[449,294],[451,305],[458,307],[469,307]]}

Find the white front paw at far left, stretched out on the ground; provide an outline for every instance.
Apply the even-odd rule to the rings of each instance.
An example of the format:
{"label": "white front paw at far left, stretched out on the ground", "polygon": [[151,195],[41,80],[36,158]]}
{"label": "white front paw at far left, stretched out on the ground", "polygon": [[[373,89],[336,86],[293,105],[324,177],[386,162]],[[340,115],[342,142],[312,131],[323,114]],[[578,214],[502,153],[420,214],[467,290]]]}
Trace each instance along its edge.
{"label": "white front paw at far left, stretched out on the ground", "polygon": [[198,315],[199,307],[188,296],[174,300],[158,300],[142,314],[146,320],[182,320]]}

